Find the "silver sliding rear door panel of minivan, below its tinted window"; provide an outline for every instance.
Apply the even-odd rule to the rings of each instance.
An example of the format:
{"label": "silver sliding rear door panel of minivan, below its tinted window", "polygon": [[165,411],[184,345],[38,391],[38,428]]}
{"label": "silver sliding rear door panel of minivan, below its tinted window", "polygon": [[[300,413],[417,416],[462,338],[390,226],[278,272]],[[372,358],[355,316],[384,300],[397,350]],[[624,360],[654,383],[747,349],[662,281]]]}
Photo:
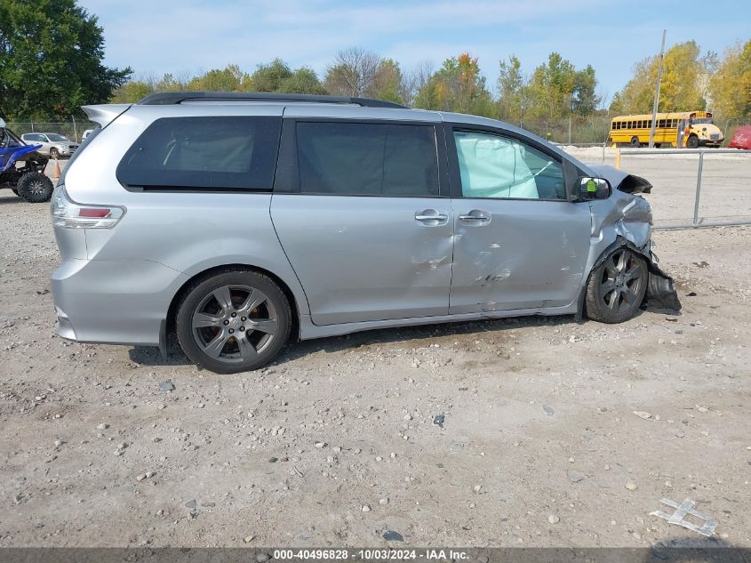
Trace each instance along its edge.
{"label": "silver sliding rear door panel of minivan, below its tinted window", "polygon": [[275,194],[271,215],[316,325],[447,314],[448,199]]}

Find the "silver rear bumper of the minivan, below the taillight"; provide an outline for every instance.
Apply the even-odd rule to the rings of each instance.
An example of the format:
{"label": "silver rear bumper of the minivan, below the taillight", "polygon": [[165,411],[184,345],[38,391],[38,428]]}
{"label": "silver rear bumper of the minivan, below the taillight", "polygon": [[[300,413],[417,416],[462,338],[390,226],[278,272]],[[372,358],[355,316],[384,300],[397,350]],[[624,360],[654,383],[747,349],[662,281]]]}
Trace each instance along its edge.
{"label": "silver rear bumper of the minivan, below the taillight", "polygon": [[160,346],[188,277],[155,261],[64,261],[52,274],[57,334],[77,342]]}

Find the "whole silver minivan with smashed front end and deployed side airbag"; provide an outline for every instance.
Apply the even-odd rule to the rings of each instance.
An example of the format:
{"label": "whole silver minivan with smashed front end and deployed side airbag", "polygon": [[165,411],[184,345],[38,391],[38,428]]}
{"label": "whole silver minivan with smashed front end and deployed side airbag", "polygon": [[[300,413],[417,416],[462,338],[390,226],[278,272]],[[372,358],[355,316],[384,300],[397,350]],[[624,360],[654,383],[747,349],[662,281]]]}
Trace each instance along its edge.
{"label": "whole silver minivan with smashed front end and deployed side airbag", "polygon": [[[52,197],[60,336],[267,364],[291,338],[633,317],[651,186],[486,119],[358,98],[176,92],[84,108]],[[669,278],[668,278],[669,279]]]}

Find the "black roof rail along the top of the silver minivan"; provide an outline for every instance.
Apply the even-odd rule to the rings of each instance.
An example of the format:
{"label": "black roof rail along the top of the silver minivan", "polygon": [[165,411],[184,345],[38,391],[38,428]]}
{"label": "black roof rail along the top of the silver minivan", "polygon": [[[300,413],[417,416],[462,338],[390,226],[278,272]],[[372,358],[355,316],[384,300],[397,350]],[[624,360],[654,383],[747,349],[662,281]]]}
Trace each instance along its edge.
{"label": "black roof rail along the top of the silver minivan", "polygon": [[183,101],[308,101],[312,103],[354,104],[364,108],[408,109],[393,101],[372,98],[349,98],[344,96],[316,96],[276,92],[158,92],[139,101],[140,106],[169,106]]}

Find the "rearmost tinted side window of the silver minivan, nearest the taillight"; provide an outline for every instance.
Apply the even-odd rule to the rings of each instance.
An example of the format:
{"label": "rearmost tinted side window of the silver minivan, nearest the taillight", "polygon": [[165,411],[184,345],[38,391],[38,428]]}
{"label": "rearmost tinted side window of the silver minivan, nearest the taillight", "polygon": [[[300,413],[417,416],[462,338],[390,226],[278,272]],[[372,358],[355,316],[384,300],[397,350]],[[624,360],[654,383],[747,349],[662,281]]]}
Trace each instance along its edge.
{"label": "rearmost tinted side window of the silver minivan, nearest the taillight", "polygon": [[128,188],[270,191],[280,117],[164,117],[117,166]]}

